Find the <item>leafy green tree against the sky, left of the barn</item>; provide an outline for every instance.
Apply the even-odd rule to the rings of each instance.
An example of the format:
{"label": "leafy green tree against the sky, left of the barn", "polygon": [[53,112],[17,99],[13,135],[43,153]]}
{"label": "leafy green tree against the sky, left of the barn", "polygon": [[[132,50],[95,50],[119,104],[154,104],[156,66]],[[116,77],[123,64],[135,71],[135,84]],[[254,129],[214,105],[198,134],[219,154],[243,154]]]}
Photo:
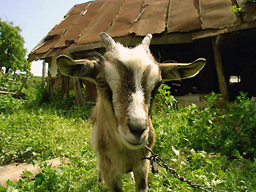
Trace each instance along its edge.
{"label": "leafy green tree against the sky, left of the barn", "polygon": [[31,74],[31,64],[25,58],[27,50],[24,48],[24,39],[20,35],[19,26],[7,23],[0,18],[0,66],[8,72],[26,72]]}

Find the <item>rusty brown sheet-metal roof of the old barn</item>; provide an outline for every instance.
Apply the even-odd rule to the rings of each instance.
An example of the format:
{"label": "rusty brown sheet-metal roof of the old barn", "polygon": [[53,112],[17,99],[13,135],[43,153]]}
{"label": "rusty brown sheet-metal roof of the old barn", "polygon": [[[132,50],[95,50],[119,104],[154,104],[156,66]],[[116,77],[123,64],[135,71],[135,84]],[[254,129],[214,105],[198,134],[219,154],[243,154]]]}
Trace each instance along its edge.
{"label": "rusty brown sheet-metal roof of the old barn", "polygon": [[76,4],[29,53],[29,61],[62,53],[103,47],[99,33],[108,32],[124,45],[146,34],[151,44],[195,39],[256,27],[256,6],[241,16],[230,12],[242,0],[96,0]]}

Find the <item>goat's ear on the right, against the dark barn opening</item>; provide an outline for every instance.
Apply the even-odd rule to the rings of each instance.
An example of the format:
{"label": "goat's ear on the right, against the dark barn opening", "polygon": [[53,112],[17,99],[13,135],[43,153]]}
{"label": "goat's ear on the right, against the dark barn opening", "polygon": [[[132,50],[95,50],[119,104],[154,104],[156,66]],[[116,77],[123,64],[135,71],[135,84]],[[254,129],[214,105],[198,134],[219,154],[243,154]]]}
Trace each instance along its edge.
{"label": "goat's ear on the right, against the dark barn opening", "polygon": [[190,64],[159,64],[161,70],[162,80],[182,80],[189,77],[194,77],[203,69],[206,64],[206,59],[198,58]]}

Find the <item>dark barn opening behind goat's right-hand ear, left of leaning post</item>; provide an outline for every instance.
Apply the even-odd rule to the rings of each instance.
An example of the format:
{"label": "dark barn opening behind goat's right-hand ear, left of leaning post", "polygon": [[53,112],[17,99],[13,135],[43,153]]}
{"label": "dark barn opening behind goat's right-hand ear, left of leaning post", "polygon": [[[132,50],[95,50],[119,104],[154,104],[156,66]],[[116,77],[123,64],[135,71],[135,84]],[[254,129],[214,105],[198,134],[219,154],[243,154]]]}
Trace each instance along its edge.
{"label": "dark barn opening behind goat's right-hand ear, left of leaning post", "polygon": [[191,63],[197,58],[206,58],[206,66],[196,77],[166,82],[167,85],[170,85],[170,91],[174,96],[184,96],[189,93],[211,93],[211,91],[219,92],[214,55],[209,39],[187,44],[151,45],[151,52],[161,63],[169,61]]}

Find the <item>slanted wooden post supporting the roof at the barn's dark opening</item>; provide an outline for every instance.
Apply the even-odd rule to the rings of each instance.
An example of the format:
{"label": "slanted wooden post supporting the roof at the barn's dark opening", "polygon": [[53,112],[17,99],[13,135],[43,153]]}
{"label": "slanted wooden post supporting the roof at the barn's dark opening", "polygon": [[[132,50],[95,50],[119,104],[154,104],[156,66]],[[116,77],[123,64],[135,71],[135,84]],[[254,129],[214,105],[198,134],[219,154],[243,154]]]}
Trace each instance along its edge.
{"label": "slanted wooden post supporting the roof at the barn's dark opening", "polygon": [[214,58],[215,58],[215,65],[217,69],[217,75],[219,80],[219,91],[222,93],[223,99],[226,101],[229,100],[228,92],[227,92],[227,83],[225,80],[225,74],[222,67],[222,57],[220,55],[219,44],[218,44],[218,37],[212,37],[212,46],[214,49]]}

